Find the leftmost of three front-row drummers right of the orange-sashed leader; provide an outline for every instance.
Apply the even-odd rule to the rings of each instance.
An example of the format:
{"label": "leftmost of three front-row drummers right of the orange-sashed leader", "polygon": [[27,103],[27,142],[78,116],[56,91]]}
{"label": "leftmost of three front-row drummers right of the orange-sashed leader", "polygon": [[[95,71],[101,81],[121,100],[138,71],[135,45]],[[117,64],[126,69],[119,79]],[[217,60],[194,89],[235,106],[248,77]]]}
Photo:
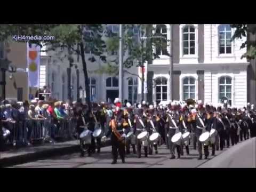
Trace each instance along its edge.
{"label": "leftmost of three front-row drummers right of the orange-sashed leader", "polygon": [[[143,125],[141,124],[140,120],[142,121]],[[138,105],[137,114],[134,118],[134,128],[135,128],[135,137],[136,137],[136,144],[137,144],[137,156],[141,158],[141,144],[142,142],[138,139],[138,135],[142,132],[143,129],[146,129],[145,125],[147,123],[147,118],[145,116],[143,108],[141,108],[141,104]],[[148,157],[148,146],[143,146],[145,151],[145,157]]]}

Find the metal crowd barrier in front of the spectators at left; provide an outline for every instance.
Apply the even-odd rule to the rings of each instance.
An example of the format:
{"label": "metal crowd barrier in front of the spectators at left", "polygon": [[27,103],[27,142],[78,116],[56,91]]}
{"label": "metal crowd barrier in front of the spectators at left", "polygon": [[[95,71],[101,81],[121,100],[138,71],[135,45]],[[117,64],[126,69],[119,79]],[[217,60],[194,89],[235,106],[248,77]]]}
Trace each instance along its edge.
{"label": "metal crowd barrier in front of the spectators at left", "polygon": [[57,138],[64,140],[76,139],[75,118],[61,119],[60,121],[53,121],[51,118],[23,119],[6,122],[3,127],[3,130],[7,130],[9,134],[3,138],[4,142],[0,145],[10,143],[13,146],[26,146],[28,142],[33,144],[39,141],[43,144],[45,142],[56,142],[55,139]]}

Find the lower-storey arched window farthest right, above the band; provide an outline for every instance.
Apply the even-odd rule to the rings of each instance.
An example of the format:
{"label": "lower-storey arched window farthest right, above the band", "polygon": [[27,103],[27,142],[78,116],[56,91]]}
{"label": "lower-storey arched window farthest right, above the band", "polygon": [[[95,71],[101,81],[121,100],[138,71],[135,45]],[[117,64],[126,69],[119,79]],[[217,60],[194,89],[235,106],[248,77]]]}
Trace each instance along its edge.
{"label": "lower-storey arched window farthest right, above the band", "polygon": [[231,101],[231,93],[232,93],[232,79],[231,77],[220,77],[219,82],[219,102],[222,97],[227,97],[229,102]]}

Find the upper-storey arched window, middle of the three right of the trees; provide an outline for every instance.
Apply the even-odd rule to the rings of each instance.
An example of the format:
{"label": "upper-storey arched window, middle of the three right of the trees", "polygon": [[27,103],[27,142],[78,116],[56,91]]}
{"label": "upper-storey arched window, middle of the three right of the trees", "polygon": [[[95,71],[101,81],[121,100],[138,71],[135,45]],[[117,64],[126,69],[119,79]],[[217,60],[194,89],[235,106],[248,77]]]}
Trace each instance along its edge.
{"label": "upper-storey arched window, middle of the three right of the trees", "polygon": [[195,27],[183,28],[183,55],[195,54]]}

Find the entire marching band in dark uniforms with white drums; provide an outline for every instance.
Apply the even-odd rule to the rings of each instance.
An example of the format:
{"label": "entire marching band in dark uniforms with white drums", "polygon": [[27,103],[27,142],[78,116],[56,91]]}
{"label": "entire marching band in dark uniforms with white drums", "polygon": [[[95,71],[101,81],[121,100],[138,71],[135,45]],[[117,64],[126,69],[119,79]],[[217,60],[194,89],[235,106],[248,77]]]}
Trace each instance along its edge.
{"label": "entire marching band in dark uniforms with white drums", "polygon": [[[189,146],[198,150],[198,159],[215,155],[215,150],[236,145],[239,141],[256,136],[256,111],[253,105],[237,109],[227,105],[227,100],[214,107],[202,101],[161,102],[148,105],[145,101],[125,106],[118,98],[115,106],[101,102],[92,106],[92,112],[78,110],[77,132],[81,143],[81,155],[85,146],[88,155],[100,153],[101,141],[110,137],[113,162],[118,153],[125,163],[125,155],[141,158],[158,154],[158,146],[166,145],[170,159],[182,158],[184,149],[189,155]],[[107,129],[105,131],[105,129]],[[105,134],[106,132],[106,134]],[[231,141],[231,142],[230,142]],[[204,152],[204,153],[203,153]]]}

